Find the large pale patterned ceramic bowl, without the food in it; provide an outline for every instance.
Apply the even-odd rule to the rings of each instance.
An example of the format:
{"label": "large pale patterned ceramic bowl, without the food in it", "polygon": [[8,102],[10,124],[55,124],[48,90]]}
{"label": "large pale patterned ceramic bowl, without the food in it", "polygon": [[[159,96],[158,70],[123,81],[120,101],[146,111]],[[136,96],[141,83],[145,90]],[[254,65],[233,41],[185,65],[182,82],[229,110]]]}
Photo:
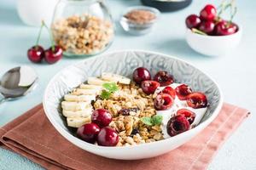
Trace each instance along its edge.
{"label": "large pale patterned ceramic bowl, without the food in it", "polygon": [[[131,77],[132,72],[139,66],[147,67],[153,75],[160,70],[170,71],[177,82],[187,83],[195,91],[207,94],[210,106],[201,123],[197,127],[170,139],[127,147],[98,146],[86,143],[73,136],[73,133],[66,126],[65,118],[61,115],[60,103],[64,94],[79,86],[81,82],[85,82],[87,77],[100,76],[102,71],[110,71]],[[71,143],[99,156],[121,160],[136,160],[159,156],[195,137],[218,115],[223,99],[217,83],[195,68],[195,66],[165,54],[127,50],[84,59],[78,64],[70,65],[63,69],[50,80],[44,92],[43,104],[49,121]]]}

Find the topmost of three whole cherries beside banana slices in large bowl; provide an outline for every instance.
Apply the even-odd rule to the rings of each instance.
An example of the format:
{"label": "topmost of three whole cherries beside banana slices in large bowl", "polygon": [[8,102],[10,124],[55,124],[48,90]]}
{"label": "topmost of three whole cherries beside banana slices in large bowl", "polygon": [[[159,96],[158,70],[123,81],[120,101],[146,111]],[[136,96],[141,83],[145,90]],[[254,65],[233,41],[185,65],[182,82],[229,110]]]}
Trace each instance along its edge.
{"label": "topmost of three whole cherries beside banana slices in large bowl", "polygon": [[95,122],[99,127],[107,127],[112,121],[112,115],[105,109],[97,109],[91,115],[91,122]]}

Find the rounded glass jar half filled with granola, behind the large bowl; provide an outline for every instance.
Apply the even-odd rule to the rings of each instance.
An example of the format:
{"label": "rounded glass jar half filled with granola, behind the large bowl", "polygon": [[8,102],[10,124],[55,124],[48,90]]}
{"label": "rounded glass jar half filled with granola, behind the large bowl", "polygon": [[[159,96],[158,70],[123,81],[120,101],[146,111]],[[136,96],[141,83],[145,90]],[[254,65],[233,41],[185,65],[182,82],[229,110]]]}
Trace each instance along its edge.
{"label": "rounded glass jar half filled with granola, behind the large bowl", "polygon": [[70,57],[100,54],[114,37],[113,20],[103,0],[60,0],[51,31],[55,44]]}

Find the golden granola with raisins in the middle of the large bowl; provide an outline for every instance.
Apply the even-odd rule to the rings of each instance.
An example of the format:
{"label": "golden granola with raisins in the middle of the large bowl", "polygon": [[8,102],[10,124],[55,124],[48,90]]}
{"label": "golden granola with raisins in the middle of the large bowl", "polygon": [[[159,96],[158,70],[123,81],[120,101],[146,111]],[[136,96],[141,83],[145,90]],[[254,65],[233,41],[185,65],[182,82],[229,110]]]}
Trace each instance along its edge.
{"label": "golden granola with raisins in the middle of the large bowl", "polygon": [[104,108],[113,115],[109,126],[119,133],[117,145],[143,144],[163,139],[160,123],[154,126],[145,125],[142,117],[155,116],[154,95],[144,94],[134,82],[130,85],[119,84],[119,91],[109,99],[97,99],[95,109]]}

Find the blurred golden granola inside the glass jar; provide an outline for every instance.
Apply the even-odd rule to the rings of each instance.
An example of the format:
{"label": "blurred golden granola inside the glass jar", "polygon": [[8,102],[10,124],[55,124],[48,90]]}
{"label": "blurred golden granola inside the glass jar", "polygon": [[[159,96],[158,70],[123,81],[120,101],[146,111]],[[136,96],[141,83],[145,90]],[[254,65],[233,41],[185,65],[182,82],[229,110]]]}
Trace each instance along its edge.
{"label": "blurred golden granola inside the glass jar", "polygon": [[113,25],[89,14],[55,20],[51,26],[55,43],[71,54],[96,54],[113,39]]}

